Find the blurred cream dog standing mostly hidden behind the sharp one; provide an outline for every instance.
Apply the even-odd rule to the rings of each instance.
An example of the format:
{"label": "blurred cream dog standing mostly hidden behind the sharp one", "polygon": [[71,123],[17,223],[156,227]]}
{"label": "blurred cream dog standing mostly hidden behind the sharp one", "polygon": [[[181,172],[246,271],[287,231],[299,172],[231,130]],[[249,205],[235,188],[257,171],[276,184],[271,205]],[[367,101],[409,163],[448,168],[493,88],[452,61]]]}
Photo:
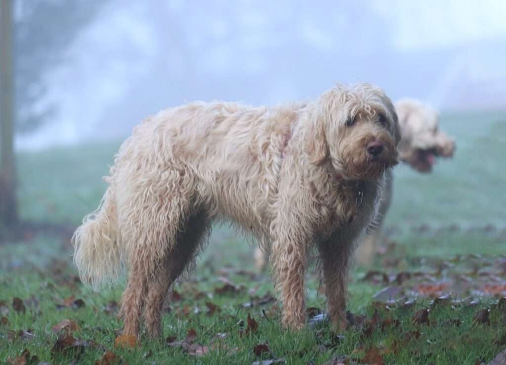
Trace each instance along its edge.
{"label": "blurred cream dog standing mostly hidden behind the sharp one", "polygon": [[[402,99],[395,103],[401,127],[399,158],[420,173],[430,173],[437,157],[449,158],[455,151],[455,142],[439,130],[439,113],[431,106],[414,99]],[[370,265],[374,259],[376,244],[381,240],[381,228],[392,201],[393,176],[385,176],[385,188],[379,201],[374,228],[358,246],[357,262]],[[259,265],[263,265],[259,261]]]}

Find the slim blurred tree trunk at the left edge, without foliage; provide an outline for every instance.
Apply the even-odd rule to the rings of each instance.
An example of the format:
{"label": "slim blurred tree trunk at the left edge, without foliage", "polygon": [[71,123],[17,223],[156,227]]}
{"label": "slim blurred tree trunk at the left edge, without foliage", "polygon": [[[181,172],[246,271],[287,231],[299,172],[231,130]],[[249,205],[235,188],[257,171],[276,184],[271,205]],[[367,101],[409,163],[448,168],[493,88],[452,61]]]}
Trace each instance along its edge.
{"label": "slim blurred tree trunk at the left edge, without foliage", "polygon": [[14,163],[13,0],[0,0],[0,228],[18,222]]}

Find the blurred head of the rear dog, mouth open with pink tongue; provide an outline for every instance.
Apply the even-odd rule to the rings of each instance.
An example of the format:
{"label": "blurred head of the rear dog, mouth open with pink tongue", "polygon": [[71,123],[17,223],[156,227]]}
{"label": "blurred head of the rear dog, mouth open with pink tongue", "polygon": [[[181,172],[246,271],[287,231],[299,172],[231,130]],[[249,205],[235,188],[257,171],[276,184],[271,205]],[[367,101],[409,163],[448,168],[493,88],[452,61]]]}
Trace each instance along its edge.
{"label": "blurred head of the rear dog, mouth open with pink tongue", "polygon": [[419,172],[429,173],[437,157],[451,157],[455,142],[439,130],[439,114],[412,99],[395,104],[401,126],[400,159]]}

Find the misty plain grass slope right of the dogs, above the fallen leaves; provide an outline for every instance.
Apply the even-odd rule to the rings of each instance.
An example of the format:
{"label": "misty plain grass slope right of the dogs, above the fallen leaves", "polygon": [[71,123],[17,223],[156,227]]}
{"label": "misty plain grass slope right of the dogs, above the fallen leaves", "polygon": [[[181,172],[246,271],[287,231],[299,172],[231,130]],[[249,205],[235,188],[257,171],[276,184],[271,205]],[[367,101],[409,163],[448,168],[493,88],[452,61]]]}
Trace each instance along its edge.
{"label": "misty plain grass slope right of the dogs, above the fallen leaves", "polygon": [[447,115],[440,128],[455,138],[454,157],[440,159],[432,174],[396,167],[395,194],[386,224],[493,224],[504,228],[506,115]]}

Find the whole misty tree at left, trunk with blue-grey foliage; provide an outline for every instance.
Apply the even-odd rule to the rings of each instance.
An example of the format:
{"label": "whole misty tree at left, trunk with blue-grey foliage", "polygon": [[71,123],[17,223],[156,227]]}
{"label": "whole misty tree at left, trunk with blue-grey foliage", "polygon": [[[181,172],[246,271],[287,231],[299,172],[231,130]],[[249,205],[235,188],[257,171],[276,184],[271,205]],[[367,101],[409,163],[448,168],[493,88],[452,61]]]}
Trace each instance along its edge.
{"label": "whole misty tree at left, trunk with blue-grey foliage", "polygon": [[44,76],[66,61],[65,51],[104,4],[102,0],[0,0],[0,229],[18,221],[14,134],[34,130],[56,111],[55,106],[36,108],[47,91]]}

